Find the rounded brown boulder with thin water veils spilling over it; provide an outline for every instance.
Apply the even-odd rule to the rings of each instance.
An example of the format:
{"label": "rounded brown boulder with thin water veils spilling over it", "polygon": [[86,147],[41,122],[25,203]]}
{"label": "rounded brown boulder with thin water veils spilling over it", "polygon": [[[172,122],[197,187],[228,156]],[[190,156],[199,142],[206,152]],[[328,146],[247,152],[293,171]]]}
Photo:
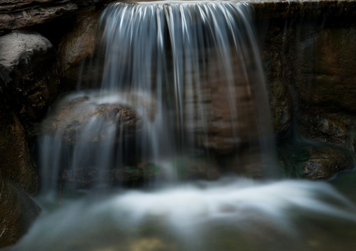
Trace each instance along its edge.
{"label": "rounded brown boulder with thin water veils spilling over it", "polygon": [[[98,128],[101,130],[88,130],[89,121],[98,121]],[[105,128],[100,127],[106,125]],[[108,132],[113,126],[116,132],[123,131],[124,134]],[[87,127],[87,130],[86,130]],[[61,140],[66,144],[75,144],[80,137],[86,137],[86,142],[97,143],[107,139],[111,135],[116,135],[114,142],[124,142],[135,139],[136,133],[140,130],[140,118],[137,114],[124,105],[117,103],[97,103],[89,96],[73,98],[73,100],[62,100],[57,103],[57,108],[43,123],[43,134],[61,135]],[[86,130],[85,133],[82,132]],[[122,138],[121,138],[122,137]]]}

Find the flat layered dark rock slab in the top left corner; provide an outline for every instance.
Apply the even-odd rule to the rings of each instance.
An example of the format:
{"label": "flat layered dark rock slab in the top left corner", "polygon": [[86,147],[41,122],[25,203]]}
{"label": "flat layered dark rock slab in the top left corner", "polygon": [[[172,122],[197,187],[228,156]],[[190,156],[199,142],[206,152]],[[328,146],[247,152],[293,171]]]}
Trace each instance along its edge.
{"label": "flat layered dark rock slab in the top left corner", "polygon": [[43,24],[77,10],[69,0],[5,0],[0,3],[0,31]]}

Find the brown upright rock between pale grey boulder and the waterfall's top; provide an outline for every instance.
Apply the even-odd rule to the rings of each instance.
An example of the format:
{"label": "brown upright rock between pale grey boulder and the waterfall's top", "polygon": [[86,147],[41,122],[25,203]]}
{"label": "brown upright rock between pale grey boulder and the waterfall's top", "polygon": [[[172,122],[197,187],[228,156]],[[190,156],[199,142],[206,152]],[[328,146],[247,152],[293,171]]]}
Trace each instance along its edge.
{"label": "brown upright rock between pale grey boulder and the waterfall's top", "polygon": [[[89,64],[96,50],[98,12],[83,13],[77,17],[73,31],[66,34],[59,44],[60,76],[62,88],[73,90],[78,82],[93,79],[96,68]],[[84,63],[85,70],[84,70]],[[80,75],[81,74],[81,75]],[[100,84],[100,83],[98,83]]]}

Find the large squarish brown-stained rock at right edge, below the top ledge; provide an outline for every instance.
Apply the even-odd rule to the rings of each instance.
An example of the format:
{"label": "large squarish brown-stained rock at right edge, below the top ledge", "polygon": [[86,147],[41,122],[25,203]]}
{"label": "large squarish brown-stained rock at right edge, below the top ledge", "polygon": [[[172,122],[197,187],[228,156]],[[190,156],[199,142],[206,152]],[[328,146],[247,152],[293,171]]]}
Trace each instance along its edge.
{"label": "large squarish brown-stained rock at right edge, below the top ledge", "polygon": [[356,29],[324,29],[304,40],[301,55],[297,88],[303,105],[355,113]]}

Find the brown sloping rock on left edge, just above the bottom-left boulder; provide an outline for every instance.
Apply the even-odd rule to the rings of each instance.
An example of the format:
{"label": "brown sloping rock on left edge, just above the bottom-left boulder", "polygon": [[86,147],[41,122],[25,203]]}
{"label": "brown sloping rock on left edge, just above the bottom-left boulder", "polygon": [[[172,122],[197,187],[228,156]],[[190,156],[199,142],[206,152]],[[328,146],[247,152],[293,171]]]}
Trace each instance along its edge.
{"label": "brown sloping rock on left edge, just above the bottom-left boulder", "polygon": [[24,127],[17,116],[0,104],[0,172],[30,195],[38,190],[38,174]]}

